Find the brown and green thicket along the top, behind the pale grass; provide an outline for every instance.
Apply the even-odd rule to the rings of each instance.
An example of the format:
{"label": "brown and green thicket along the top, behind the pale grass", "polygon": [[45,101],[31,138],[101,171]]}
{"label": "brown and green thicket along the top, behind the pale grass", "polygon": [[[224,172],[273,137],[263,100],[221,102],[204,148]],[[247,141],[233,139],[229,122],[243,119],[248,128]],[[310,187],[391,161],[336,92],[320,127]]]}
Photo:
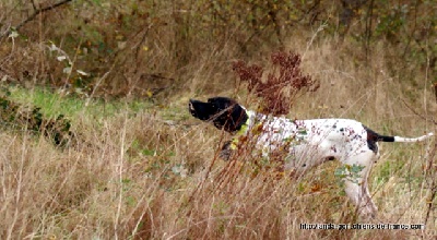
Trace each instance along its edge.
{"label": "brown and green thicket along the top, behind the pale grass", "polygon": [[[26,17],[10,10],[33,12],[38,7],[46,5],[32,7],[29,1],[2,5],[8,13],[3,29]],[[392,63],[390,74],[411,81],[414,71],[423,68],[429,76],[437,75],[437,48],[433,44],[437,37],[436,8],[430,0],[76,0],[42,12],[39,19],[26,22],[10,38],[3,37],[7,45],[2,47],[2,57],[13,45],[24,49],[28,43],[31,46],[38,41],[54,43],[64,56],[71,56],[70,67],[80,72],[63,75],[67,67],[54,61],[47,56],[49,52],[40,48],[25,50],[24,53],[39,62],[38,81],[44,84],[69,83],[101,96],[154,97],[192,77],[178,76],[189,68],[197,68],[208,58],[205,55],[216,56],[217,61],[228,58],[231,52],[225,51],[253,58],[269,48],[286,47],[293,40],[291,36],[300,36],[305,28],[326,25],[321,39],[340,36],[343,41],[355,43],[354,47],[362,50],[353,56],[365,64],[380,51],[378,43],[382,41],[387,46],[382,53]],[[39,27],[44,28],[44,35],[35,31]],[[212,53],[208,53],[209,49]],[[26,61],[12,58],[2,63],[2,69],[11,79],[22,82],[31,77],[23,74],[32,70]],[[16,67],[21,74],[13,71]]]}

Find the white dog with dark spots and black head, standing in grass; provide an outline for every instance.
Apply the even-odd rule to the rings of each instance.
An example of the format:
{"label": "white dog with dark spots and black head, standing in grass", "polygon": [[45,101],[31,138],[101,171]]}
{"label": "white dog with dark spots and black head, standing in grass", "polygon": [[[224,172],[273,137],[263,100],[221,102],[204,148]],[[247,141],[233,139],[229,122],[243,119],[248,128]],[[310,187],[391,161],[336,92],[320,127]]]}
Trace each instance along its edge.
{"label": "white dog with dark spots and black head, standing in grass", "polygon": [[298,173],[332,159],[340,160],[346,166],[344,169],[355,167],[354,175],[351,173],[353,177],[344,179],[345,192],[364,217],[375,217],[377,212],[367,188],[367,177],[379,157],[378,142],[420,142],[433,135],[428,133],[415,139],[385,136],[351,119],[270,117],[246,110],[227,97],[209,98],[206,103],[190,99],[189,111],[193,117],[234,134],[233,141],[223,147],[225,153],[236,149],[239,139],[256,139],[255,147],[264,156],[285,148],[284,169],[294,169]]}

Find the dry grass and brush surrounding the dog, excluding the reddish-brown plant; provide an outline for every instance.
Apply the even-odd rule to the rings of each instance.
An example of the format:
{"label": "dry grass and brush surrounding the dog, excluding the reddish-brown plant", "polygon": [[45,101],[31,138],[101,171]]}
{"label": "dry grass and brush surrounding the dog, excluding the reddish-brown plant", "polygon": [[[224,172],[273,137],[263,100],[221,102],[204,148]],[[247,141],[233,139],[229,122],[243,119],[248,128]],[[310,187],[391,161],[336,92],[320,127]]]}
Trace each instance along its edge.
{"label": "dry grass and brush surrounding the dog, excluding the reddish-brown plant", "polygon": [[320,83],[296,95],[288,117],[436,133],[434,1],[73,0],[49,8],[56,2],[0,3],[1,99],[39,107],[47,122],[63,115],[75,136],[54,145],[50,134],[35,134],[32,119],[11,128],[4,115],[23,111],[0,106],[0,239],[437,236],[435,139],[381,144],[369,179],[379,207],[373,224],[424,230],[302,230],[365,224],[333,173],[338,164],[292,180],[256,168],[248,155],[222,161],[220,143],[229,136],[187,111],[190,97],[216,95],[262,106],[238,87],[233,63],[265,65],[285,49]]}

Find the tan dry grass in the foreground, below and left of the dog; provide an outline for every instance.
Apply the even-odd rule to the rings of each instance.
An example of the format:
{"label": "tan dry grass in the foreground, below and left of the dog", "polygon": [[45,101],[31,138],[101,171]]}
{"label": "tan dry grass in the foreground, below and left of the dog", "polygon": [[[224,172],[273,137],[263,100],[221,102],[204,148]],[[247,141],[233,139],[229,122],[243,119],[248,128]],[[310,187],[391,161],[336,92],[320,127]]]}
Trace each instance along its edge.
{"label": "tan dry grass in the foreground, below and left of the dog", "polygon": [[[300,224],[366,224],[336,183],[338,163],[295,180],[274,168],[218,158],[223,135],[189,117],[187,103],[86,111],[86,99],[45,91],[11,92],[11,99],[46,104],[72,120],[80,142],[62,151],[26,132],[2,132],[2,238],[432,238],[433,145],[383,156],[370,182],[380,207],[374,224],[423,224],[417,230],[303,230]],[[304,96],[302,96],[304,97]],[[98,109],[98,101],[90,101]],[[110,103],[108,104],[110,106]],[[298,106],[298,104],[297,104]],[[55,109],[49,109],[49,108]],[[103,106],[101,106],[103,107]],[[82,108],[82,110],[81,110]],[[74,110],[71,110],[74,109]],[[78,115],[78,112],[82,112]],[[96,116],[99,120],[94,121]],[[382,152],[385,152],[382,149]],[[421,157],[422,156],[422,157]],[[397,168],[388,171],[387,161]],[[422,169],[426,169],[425,175]],[[16,177],[12,177],[16,176]],[[374,180],[373,180],[374,179]],[[34,201],[29,201],[34,200]],[[430,201],[430,204],[429,204]],[[19,204],[16,204],[19,203]],[[367,223],[369,224],[369,223]]]}

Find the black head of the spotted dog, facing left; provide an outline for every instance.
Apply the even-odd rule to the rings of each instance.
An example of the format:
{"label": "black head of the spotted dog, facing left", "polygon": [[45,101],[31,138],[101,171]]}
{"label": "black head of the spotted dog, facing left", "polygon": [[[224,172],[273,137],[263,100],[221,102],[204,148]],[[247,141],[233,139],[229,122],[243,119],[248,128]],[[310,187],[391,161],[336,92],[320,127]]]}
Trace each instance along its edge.
{"label": "black head of the spotted dog, facing left", "polygon": [[248,119],[246,110],[227,97],[209,98],[206,103],[190,99],[188,109],[194,118],[212,121],[217,129],[227,132],[240,130]]}

